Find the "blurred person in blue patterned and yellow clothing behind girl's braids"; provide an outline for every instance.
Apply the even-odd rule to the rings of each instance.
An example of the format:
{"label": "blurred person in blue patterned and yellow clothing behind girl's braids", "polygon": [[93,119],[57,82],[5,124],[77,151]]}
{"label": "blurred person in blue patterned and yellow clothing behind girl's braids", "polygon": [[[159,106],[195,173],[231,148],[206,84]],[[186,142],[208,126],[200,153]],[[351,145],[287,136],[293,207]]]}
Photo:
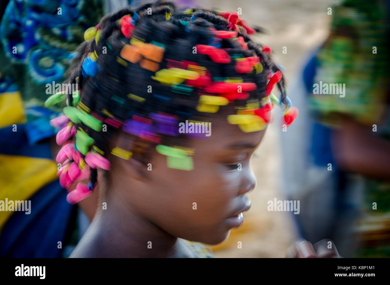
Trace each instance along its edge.
{"label": "blurred person in blue patterned and yellow clothing behind girl's braids", "polygon": [[[0,256],[66,257],[92,220],[96,196],[66,202],[53,161],[60,109],[44,107],[46,84],[64,80],[84,31],[128,0],[26,0],[0,6],[0,200],[32,211],[0,212]],[[61,245],[58,242],[61,241]]]}

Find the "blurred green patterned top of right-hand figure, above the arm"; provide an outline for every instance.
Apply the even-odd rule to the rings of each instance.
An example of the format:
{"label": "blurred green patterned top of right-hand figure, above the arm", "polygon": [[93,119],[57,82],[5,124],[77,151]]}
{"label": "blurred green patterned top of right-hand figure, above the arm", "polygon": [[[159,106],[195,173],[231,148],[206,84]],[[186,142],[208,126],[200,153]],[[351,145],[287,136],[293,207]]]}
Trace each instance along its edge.
{"label": "blurred green patterned top of right-hand figure, above the arm", "polygon": [[310,96],[309,107],[323,122],[333,124],[337,121],[335,113],[342,113],[372,124],[385,111],[388,15],[380,3],[353,0],[333,7],[331,31],[317,55],[314,83],[345,84],[345,97]]}

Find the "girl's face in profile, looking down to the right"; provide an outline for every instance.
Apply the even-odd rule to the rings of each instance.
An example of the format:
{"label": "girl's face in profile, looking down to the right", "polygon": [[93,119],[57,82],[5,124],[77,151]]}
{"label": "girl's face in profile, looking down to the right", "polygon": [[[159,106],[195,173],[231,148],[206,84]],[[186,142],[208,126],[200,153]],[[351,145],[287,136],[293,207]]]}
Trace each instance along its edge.
{"label": "girl's face in profile, looking down to the right", "polygon": [[134,159],[113,159],[111,181],[119,181],[115,188],[121,188],[132,214],[172,236],[217,244],[242,224],[239,214],[250,208],[246,194],[256,185],[250,159],[264,132],[244,133],[218,120],[207,140],[186,145],[195,148],[193,170],[168,168],[167,157],[151,149],[151,171]]}

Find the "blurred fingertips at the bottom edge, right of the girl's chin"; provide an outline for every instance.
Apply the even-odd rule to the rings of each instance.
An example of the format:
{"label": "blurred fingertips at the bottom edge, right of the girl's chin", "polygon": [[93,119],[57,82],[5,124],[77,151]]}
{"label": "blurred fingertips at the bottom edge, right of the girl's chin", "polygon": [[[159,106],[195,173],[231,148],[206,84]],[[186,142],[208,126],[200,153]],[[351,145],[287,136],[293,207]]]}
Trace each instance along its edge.
{"label": "blurred fingertips at the bottom edge, right of the girl's chin", "polygon": [[341,258],[333,241],[323,239],[314,245],[305,239],[298,239],[287,249],[287,258]]}

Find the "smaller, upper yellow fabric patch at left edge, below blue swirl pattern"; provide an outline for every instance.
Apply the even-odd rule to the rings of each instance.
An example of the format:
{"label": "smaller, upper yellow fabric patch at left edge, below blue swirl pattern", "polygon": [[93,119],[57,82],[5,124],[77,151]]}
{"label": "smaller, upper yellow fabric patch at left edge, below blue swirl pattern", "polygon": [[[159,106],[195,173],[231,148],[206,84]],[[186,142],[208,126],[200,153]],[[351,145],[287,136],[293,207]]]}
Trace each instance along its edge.
{"label": "smaller, upper yellow fabric patch at left edge, below blue swirl pattern", "polygon": [[0,128],[12,124],[23,123],[23,103],[19,91],[0,94]]}

